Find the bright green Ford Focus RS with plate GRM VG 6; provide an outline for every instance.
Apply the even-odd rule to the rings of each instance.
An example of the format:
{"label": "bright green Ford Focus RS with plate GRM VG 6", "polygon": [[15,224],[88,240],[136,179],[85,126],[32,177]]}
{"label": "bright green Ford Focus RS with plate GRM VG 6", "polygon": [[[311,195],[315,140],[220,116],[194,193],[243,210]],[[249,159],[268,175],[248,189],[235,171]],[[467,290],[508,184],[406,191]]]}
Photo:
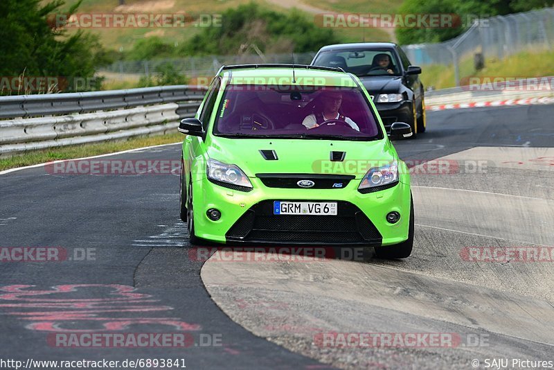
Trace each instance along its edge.
{"label": "bright green Ford Focus RS with plate GRM VG 6", "polygon": [[366,89],[341,69],[222,67],[186,134],[181,219],[190,243],[374,247],[413,245],[406,164]]}

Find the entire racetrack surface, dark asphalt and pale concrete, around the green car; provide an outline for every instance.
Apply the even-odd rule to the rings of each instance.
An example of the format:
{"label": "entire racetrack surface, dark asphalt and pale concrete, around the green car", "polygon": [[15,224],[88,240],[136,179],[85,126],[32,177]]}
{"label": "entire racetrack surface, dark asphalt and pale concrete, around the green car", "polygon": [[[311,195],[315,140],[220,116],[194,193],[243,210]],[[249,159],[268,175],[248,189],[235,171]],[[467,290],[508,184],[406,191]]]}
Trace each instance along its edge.
{"label": "entire racetrack surface, dark asphalt and pale concrete, around the green car", "polygon": [[[178,219],[176,175],[44,167],[0,175],[0,247],[60,247],[73,256],[0,263],[0,359],[184,358],[188,369],[471,369],[472,359],[554,360],[552,263],[472,262],[462,254],[554,245],[553,114],[554,105],[432,112],[429,132],[395,143],[414,164],[486,161],[479,173],[413,175],[415,249],[406,261],[212,259],[202,280],[203,262]],[[179,157],[176,145],[102,159]],[[75,261],[83,251],[88,261]],[[48,340],[102,331],[190,333],[194,344],[67,348]],[[457,333],[481,342],[341,349],[314,344],[321,331]]]}

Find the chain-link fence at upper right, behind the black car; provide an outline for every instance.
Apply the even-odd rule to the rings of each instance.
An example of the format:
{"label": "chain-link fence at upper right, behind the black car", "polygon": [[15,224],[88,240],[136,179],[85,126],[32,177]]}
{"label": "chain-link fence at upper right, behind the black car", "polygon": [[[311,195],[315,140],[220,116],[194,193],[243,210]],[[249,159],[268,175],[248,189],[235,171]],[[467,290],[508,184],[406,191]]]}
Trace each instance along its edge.
{"label": "chain-link fence at upper right, behind the black car", "polygon": [[554,48],[554,8],[479,19],[463,34],[436,44],[402,46],[415,65],[452,65],[456,86],[487,58]]}

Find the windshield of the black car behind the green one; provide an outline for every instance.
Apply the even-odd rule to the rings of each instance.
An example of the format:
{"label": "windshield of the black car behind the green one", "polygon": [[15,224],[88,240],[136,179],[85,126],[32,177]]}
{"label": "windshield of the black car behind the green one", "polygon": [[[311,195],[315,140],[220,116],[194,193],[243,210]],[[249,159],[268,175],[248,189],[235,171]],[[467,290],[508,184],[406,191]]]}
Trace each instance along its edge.
{"label": "windshield of the black car behind the green one", "polygon": [[312,63],[341,67],[356,76],[400,76],[400,63],[391,49],[323,51]]}

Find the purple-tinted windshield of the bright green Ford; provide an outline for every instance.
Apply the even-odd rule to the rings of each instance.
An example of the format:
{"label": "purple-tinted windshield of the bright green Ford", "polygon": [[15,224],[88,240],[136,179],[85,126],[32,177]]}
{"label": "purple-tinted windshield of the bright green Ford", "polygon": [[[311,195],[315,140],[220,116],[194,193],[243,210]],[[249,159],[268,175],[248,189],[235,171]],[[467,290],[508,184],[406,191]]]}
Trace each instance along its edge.
{"label": "purple-tinted windshield of the bright green Ford", "polygon": [[227,86],[213,133],[301,139],[383,137],[359,88],[282,85]]}

